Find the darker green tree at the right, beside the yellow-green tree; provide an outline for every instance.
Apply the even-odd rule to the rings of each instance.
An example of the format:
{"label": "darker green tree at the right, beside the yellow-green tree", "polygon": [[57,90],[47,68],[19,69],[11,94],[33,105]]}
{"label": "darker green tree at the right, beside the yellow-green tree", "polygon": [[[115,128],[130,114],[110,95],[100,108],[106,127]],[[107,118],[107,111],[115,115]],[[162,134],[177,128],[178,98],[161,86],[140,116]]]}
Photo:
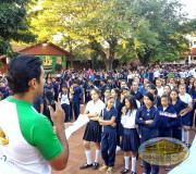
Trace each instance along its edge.
{"label": "darker green tree at the right, beside the yellow-green tree", "polygon": [[146,65],[151,61],[173,61],[188,50],[188,41],[184,37],[186,14],[182,13],[182,4],[168,0],[138,0],[138,15],[145,16],[137,39],[140,47],[136,49],[139,61]]}

